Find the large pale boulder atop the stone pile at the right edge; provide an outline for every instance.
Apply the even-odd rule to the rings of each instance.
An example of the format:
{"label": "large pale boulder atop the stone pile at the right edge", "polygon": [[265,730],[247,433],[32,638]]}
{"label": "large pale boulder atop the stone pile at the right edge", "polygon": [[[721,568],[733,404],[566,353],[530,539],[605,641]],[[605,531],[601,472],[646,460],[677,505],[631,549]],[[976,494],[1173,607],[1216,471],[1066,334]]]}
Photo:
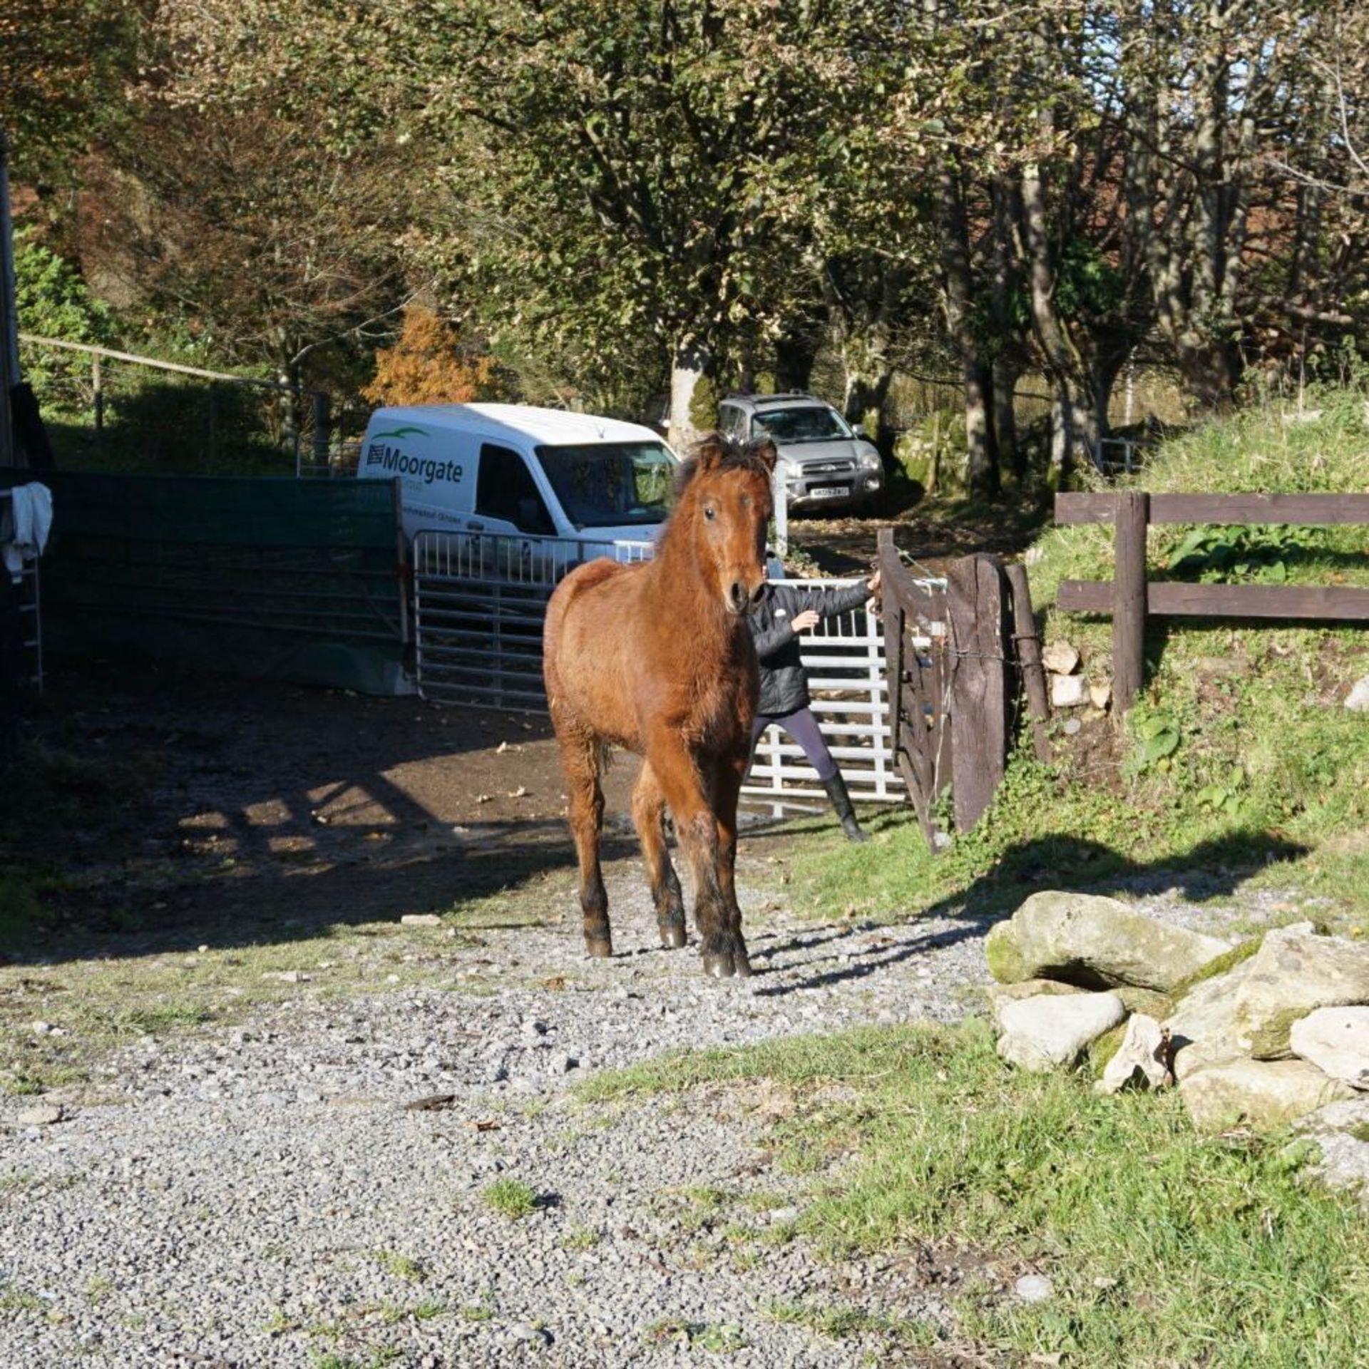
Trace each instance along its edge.
{"label": "large pale boulder atop the stone pile at the right edge", "polygon": [[1288,1031],[1317,1008],[1369,1003],[1369,946],[1310,923],[1269,932],[1236,990],[1236,1045],[1255,1060],[1291,1054]]}

